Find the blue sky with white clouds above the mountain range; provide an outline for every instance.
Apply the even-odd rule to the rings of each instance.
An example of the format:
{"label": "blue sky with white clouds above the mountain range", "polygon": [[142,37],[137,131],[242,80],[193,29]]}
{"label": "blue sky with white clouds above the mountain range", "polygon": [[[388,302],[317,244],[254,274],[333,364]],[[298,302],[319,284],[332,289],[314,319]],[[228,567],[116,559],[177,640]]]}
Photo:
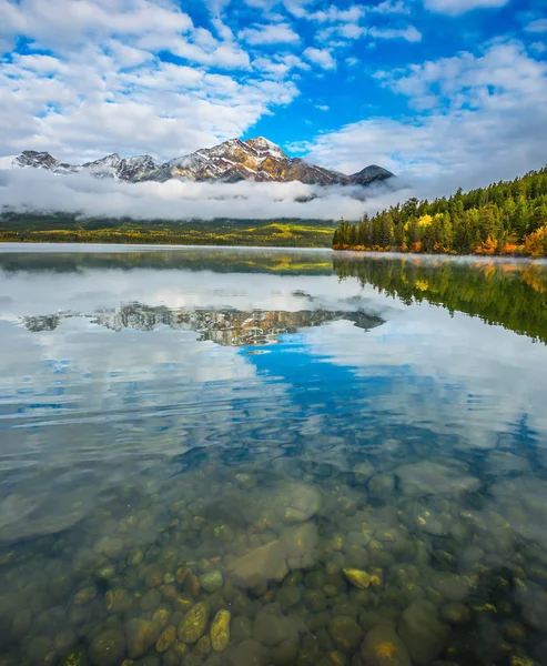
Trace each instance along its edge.
{"label": "blue sky with white clouds above the mountain range", "polygon": [[0,158],[264,135],[449,194],[547,163],[545,0],[0,0]]}

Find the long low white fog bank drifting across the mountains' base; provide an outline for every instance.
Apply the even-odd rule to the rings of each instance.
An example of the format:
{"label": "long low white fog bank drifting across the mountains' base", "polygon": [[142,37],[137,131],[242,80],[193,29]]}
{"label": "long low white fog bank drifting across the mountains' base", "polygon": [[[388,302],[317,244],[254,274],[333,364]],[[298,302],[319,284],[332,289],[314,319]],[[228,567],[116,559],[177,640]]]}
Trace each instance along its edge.
{"label": "long low white fog bank drifting across the mountains' base", "polygon": [[123,183],[89,174],[55,175],[36,169],[0,170],[0,212],[67,212],[82,216],[134,220],[314,220],[359,219],[376,213],[412,191],[403,181],[368,188],[292,183]]}

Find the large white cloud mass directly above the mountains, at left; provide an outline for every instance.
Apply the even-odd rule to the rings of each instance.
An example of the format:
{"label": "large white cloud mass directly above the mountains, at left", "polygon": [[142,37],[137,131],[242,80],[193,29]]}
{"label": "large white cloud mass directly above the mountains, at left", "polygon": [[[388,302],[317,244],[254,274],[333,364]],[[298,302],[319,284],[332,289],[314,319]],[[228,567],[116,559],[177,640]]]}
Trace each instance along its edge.
{"label": "large white cloud mass directly above the mountains, at left", "polygon": [[[141,63],[125,65],[128,59]],[[48,150],[67,161],[112,150],[184,154],[239,137],[276,104],[290,103],[298,94],[285,80],[290,69],[276,81],[259,72],[240,79],[128,52],[118,40],[65,60],[14,54],[0,69],[3,150]]]}

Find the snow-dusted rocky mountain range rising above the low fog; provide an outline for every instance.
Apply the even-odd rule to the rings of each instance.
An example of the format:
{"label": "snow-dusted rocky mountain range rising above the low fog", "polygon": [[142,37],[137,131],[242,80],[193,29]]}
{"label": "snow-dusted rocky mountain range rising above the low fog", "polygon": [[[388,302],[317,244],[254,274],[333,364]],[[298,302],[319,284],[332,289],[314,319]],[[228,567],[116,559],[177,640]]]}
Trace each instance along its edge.
{"label": "snow-dusted rocky mountain range rising above the low fog", "polygon": [[121,158],[113,153],[94,162],[74,165],[61,162],[48,152],[26,150],[16,158],[2,158],[0,168],[2,167],[45,169],[63,175],[88,172],[97,178],[113,178],[130,183],[179,179],[229,183],[253,180],[280,183],[301,181],[311,185],[368,185],[393,176],[393,173],[376,164],[353,175],[330,171],[298,158],[287,157],[278,145],[263,137],[246,141],[231,139],[163,164],[150,155]]}

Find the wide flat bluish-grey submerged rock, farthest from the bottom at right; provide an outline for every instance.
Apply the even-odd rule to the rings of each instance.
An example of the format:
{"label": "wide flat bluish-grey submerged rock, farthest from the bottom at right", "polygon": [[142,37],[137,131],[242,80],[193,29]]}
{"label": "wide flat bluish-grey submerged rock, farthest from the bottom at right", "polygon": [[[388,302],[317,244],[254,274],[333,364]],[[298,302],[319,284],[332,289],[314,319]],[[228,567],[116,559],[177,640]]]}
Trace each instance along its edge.
{"label": "wide flat bluish-grey submerged rock, farthest from the bottom at right", "polygon": [[453,495],[463,492],[475,492],[480,487],[480,481],[467,474],[463,465],[450,466],[421,461],[401,465],[395,470],[403,494],[407,497],[424,495]]}

